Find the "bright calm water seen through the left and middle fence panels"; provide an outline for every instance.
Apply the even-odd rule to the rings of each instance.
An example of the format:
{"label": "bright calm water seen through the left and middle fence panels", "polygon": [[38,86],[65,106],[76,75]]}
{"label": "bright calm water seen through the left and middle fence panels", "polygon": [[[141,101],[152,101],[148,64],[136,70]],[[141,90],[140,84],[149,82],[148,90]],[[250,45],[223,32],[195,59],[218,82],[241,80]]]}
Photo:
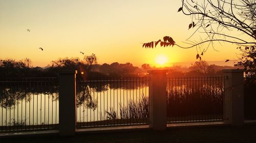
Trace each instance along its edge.
{"label": "bright calm water seen through the left and middle fence panels", "polygon": [[[2,89],[3,90],[3,89]],[[0,125],[47,125],[58,124],[58,93],[26,93],[22,96],[4,89],[0,102]],[[5,92],[4,92],[5,93]],[[89,93],[89,94],[84,94]],[[89,95],[89,96],[88,96]],[[77,122],[91,122],[110,119],[108,113],[116,113],[130,104],[140,104],[148,97],[148,86],[133,89],[110,88],[104,90],[83,88],[77,90]],[[13,100],[14,99],[14,100]],[[6,107],[7,106],[7,107]],[[124,118],[124,117],[123,117]]]}

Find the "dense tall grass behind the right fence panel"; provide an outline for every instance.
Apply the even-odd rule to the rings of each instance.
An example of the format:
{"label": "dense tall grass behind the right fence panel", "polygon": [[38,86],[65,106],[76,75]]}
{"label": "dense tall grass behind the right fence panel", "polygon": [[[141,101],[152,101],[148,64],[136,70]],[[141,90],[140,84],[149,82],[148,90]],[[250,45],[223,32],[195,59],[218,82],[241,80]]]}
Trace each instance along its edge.
{"label": "dense tall grass behind the right fence panel", "polygon": [[[172,120],[219,120],[223,115],[224,89],[204,84],[167,88],[167,117]],[[196,116],[196,117],[195,117]],[[183,117],[183,119],[174,119]],[[196,119],[195,119],[196,118]]]}

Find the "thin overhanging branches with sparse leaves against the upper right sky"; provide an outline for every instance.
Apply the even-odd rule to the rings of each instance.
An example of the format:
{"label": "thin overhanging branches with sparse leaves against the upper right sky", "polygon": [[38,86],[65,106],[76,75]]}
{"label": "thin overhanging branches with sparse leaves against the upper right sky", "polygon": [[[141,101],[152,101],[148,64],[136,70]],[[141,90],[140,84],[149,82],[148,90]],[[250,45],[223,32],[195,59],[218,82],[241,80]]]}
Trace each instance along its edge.
{"label": "thin overhanging branches with sparse leaves against the upper right sky", "polygon": [[[225,1],[225,0],[204,0],[197,2],[193,0],[182,0],[182,7],[178,12],[191,17],[188,23],[188,30],[195,28],[193,34],[186,39],[188,46],[177,44],[169,36],[163,37],[163,41],[151,41],[143,43],[142,47],[156,48],[158,43],[161,47],[178,46],[180,48],[197,48],[197,59],[205,53],[214,42],[237,44],[239,47],[252,47],[256,45],[256,2],[252,0]],[[236,12],[236,13],[235,13]],[[227,32],[227,33],[224,33]],[[200,40],[190,40],[199,33]],[[204,44],[207,43],[207,46]],[[204,47],[201,50],[201,47]],[[200,51],[198,51],[198,48]],[[215,48],[214,48],[215,49]],[[216,49],[215,49],[216,50]]]}

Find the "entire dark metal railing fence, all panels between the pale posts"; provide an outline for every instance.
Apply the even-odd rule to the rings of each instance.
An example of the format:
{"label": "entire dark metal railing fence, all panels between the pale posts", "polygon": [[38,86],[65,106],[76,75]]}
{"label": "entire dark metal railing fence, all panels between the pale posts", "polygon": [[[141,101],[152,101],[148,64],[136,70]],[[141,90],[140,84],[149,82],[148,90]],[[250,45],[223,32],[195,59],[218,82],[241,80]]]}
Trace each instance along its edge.
{"label": "entire dark metal railing fence, all panels between the pale posts", "polygon": [[[150,82],[150,77],[76,78],[77,128],[149,124]],[[225,118],[224,76],[167,77],[166,93],[167,123]],[[57,78],[0,78],[0,132],[56,129],[58,115]]]}

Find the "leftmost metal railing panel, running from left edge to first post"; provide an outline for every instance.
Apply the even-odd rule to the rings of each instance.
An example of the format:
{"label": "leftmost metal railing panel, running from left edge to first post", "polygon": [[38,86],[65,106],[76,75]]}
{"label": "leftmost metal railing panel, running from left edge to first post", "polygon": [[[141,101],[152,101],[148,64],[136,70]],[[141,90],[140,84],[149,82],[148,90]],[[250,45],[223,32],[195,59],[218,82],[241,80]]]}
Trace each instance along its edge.
{"label": "leftmost metal railing panel, running from left edge to first post", "polygon": [[0,132],[58,127],[57,78],[1,78]]}

